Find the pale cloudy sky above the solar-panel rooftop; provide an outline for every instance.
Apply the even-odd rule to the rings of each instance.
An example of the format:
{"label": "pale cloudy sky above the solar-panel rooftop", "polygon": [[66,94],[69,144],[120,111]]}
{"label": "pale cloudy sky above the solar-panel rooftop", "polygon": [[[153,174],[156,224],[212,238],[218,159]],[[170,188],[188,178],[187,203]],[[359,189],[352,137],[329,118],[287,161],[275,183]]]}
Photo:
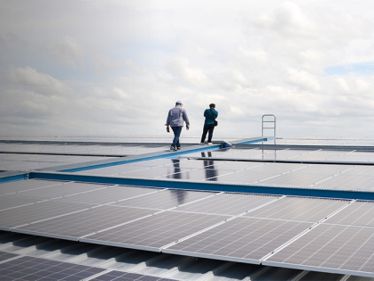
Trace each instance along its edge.
{"label": "pale cloudy sky above the solar-panel rooftop", "polygon": [[[0,0],[0,135],[374,136],[370,0]],[[265,130],[264,135],[272,135]]]}

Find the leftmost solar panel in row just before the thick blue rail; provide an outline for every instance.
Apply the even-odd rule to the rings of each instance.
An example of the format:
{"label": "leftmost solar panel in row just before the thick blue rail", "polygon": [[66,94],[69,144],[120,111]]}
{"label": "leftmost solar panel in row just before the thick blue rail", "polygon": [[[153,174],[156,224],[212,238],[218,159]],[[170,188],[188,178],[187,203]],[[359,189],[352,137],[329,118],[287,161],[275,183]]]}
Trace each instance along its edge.
{"label": "leftmost solar panel in row just before the thick blue rail", "polygon": [[24,190],[31,190],[46,186],[61,185],[61,181],[28,179],[0,185],[0,194],[14,194]]}

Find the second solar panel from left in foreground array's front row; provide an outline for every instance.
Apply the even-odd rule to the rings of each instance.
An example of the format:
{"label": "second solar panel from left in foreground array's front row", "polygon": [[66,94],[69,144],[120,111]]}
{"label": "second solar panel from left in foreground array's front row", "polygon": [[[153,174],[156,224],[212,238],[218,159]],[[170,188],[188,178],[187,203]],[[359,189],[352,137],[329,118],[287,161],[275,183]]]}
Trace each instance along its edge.
{"label": "second solar panel from left in foreground array's front row", "polygon": [[87,236],[99,230],[140,219],[153,212],[147,209],[101,206],[29,226],[13,228],[12,231],[77,240],[80,236]]}

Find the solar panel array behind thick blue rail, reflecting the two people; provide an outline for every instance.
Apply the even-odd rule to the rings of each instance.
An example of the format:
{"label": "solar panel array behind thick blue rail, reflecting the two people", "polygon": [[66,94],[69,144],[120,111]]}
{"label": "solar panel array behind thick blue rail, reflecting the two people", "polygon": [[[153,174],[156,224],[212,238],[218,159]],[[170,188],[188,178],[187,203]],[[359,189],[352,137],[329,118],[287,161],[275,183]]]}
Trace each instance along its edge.
{"label": "solar panel array behind thick blue rail, reflecting the two people", "polygon": [[[372,159],[372,153],[367,154],[366,159]],[[216,157],[221,158],[221,156]],[[327,156],[322,154],[322,157]],[[313,189],[372,191],[374,188],[374,166],[371,165],[215,161],[215,157],[204,161],[188,159],[140,161],[80,171],[77,174],[193,182],[216,181],[260,186],[301,186]]]}

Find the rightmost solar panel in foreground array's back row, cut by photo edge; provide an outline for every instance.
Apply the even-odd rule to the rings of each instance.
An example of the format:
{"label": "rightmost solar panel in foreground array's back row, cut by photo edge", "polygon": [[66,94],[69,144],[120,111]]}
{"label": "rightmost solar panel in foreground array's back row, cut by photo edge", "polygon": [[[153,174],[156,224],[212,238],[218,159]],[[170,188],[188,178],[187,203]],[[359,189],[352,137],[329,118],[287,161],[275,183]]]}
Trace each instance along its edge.
{"label": "rightmost solar panel in foreground array's back row, cut by photo edge", "polygon": [[326,223],[374,227],[374,202],[356,201],[326,220]]}

